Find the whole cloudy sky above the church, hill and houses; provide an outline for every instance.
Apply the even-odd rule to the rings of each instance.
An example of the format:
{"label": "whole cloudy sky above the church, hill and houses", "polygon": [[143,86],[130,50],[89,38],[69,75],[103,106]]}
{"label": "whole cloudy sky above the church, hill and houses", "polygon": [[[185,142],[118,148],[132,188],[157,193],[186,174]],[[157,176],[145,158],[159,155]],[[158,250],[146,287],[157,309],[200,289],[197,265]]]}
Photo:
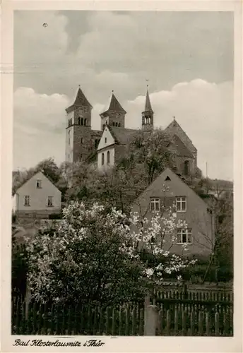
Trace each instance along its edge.
{"label": "whole cloudy sky above the church, hill and houses", "polygon": [[208,177],[232,180],[233,28],[215,11],[15,11],[13,168],[64,161],[78,85],[100,129],[112,90],[125,126],[140,128],[148,84],[155,127],[175,116],[203,174],[207,163]]}

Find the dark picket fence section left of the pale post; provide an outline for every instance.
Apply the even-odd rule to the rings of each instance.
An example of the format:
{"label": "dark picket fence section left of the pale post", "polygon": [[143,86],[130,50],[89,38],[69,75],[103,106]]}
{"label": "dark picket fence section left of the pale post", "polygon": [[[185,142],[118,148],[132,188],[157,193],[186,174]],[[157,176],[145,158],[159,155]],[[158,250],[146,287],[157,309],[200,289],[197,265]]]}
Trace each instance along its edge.
{"label": "dark picket fence section left of the pale post", "polygon": [[12,302],[12,335],[143,335],[144,308]]}

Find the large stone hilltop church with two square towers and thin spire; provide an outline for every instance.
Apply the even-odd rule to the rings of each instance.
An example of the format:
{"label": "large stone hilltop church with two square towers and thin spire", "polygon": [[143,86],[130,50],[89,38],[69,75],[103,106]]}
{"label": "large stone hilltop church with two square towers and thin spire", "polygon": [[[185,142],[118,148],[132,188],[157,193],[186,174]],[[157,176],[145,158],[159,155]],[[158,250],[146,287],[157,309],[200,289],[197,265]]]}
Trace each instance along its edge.
{"label": "large stone hilltop church with two square towers and thin spire", "polygon": [[[91,128],[91,111],[80,86],[75,100],[66,109],[66,162],[97,160],[97,168],[105,170],[113,167],[127,152],[127,148],[137,129],[126,128],[126,111],[115,97],[114,92],[104,111],[100,114],[101,129]],[[144,111],[141,112],[142,131],[154,128],[154,112],[150,103],[148,88]],[[177,170],[183,176],[201,172],[197,167],[197,150],[184,130],[174,118],[165,128],[171,136],[172,148],[176,154]]]}

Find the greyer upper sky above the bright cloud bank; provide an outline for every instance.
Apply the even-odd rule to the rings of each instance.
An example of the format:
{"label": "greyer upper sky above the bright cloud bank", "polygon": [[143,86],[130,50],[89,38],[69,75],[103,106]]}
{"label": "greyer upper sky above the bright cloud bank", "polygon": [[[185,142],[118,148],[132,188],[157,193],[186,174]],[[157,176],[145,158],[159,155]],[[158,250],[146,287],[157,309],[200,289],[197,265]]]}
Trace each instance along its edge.
{"label": "greyer upper sky above the bright cloud bank", "polygon": [[146,78],[154,91],[232,79],[230,13],[17,11],[14,23],[16,88],[70,95],[81,84],[101,104],[112,89],[121,100],[143,94]]}

